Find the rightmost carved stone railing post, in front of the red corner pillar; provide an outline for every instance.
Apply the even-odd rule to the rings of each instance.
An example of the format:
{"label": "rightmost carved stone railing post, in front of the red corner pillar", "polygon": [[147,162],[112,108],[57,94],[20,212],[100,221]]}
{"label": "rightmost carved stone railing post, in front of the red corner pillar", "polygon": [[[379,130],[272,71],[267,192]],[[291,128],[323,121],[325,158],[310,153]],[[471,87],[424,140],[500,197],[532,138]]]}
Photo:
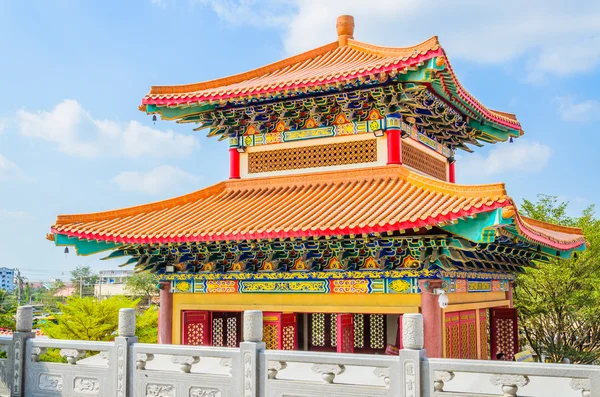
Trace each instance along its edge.
{"label": "rightmost carved stone railing post, in front of the red corner pillar", "polygon": [[400,385],[405,397],[421,397],[421,357],[423,350],[423,315],[402,316],[402,346],[400,350]]}

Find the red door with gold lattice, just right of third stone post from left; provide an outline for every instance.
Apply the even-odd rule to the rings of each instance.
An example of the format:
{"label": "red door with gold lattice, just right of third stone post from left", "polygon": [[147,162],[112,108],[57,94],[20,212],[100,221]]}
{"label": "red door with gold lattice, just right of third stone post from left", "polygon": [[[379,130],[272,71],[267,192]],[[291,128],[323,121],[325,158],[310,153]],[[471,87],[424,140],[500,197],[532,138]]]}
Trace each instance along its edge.
{"label": "red door with gold lattice, just right of third stone post from left", "polygon": [[263,314],[263,341],[267,349],[297,350],[298,325],[296,313]]}

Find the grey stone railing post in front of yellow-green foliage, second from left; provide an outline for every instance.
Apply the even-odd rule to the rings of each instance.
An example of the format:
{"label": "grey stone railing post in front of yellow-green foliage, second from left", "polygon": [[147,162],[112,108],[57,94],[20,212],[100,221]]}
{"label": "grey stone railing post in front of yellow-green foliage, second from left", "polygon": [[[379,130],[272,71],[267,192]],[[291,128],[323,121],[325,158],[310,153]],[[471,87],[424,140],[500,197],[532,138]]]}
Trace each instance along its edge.
{"label": "grey stone railing post in front of yellow-green foliage, second from left", "polygon": [[131,345],[138,341],[135,336],[135,309],[119,310],[119,336],[115,338],[116,360],[116,396],[133,396],[133,370],[135,357]]}

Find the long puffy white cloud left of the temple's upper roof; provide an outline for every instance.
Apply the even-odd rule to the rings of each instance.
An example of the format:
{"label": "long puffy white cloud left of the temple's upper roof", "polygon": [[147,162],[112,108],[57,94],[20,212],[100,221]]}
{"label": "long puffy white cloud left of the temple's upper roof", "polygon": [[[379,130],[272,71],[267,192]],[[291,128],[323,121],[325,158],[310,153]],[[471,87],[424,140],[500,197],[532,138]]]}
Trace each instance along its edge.
{"label": "long puffy white cloud left of the temple's upper roof", "polygon": [[199,146],[193,136],[161,131],[135,120],[95,119],[71,99],[50,112],[20,110],[17,124],[22,135],[55,143],[59,151],[77,157],[187,156]]}

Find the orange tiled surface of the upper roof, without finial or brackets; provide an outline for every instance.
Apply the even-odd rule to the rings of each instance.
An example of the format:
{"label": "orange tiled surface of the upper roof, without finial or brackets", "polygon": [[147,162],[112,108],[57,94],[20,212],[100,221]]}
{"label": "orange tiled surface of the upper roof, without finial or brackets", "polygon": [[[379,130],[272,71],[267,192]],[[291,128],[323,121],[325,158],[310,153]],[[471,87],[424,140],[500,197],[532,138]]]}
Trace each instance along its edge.
{"label": "orange tiled surface of the upper roof, without finial or brackets", "polygon": [[[145,105],[176,106],[199,102],[227,100],[261,95],[311,86],[335,84],[379,73],[405,73],[426,60],[446,54],[437,36],[411,47],[382,47],[353,39],[335,41],[286,58],[284,60],[220,79],[184,85],[153,86],[142,99]],[[447,63],[447,57],[445,59]],[[467,102],[477,107],[490,119],[520,130],[512,115],[493,111],[483,106],[458,83],[448,64],[459,91]]]}

